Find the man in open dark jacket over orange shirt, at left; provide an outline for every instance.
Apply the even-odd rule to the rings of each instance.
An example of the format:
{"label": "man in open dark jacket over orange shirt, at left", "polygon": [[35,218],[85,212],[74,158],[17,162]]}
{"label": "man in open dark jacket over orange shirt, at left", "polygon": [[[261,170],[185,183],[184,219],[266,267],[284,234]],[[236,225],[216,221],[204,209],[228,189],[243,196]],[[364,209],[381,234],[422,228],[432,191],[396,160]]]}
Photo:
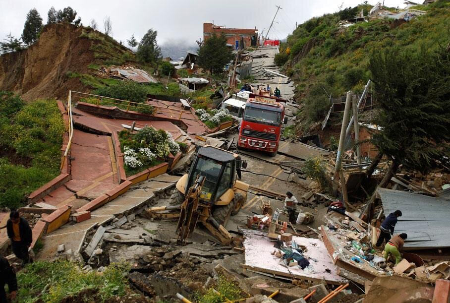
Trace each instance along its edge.
{"label": "man in open dark jacket over orange shirt, at left", "polygon": [[29,263],[28,248],[33,242],[33,234],[27,220],[20,218],[19,212],[11,211],[6,223],[6,231],[9,239],[11,239],[12,252],[22,260],[23,264]]}

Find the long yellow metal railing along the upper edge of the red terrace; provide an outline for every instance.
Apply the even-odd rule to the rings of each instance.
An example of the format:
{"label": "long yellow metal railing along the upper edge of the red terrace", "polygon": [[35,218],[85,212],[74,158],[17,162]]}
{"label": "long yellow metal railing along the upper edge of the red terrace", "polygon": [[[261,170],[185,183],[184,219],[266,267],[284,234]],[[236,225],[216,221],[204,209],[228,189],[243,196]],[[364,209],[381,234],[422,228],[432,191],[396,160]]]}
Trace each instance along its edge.
{"label": "long yellow metal railing along the upper edge of the red terrace", "polygon": [[[127,100],[121,100],[121,99],[116,99],[116,98],[111,98],[111,97],[105,97],[105,96],[99,96],[99,95],[93,95],[93,94],[81,93],[81,92],[75,92],[75,91],[70,91],[70,92],[72,93],[72,98],[76,101],[87,102],[87,103],[95,104],[96,106],[114,105],[120,109],[125,110],[126,112],[128,112],[130,110],[136,111],[136,112],[139,112],[140,110],[153,110],[152,115],[154,115],[158,111],[159,113],[167,113],[170,115],[174,115],[171,117],[174,119],[177,119],[177,120],[180,120],[184,113],[183,110],[168,109],[168,108],[158,106],[158,105],[150,105],[147,103],[132,102],[132,101],[127,101]],[[70,93],[69,93],[69,95],[70,95]],[[92,102],[95,102],[95,103],[92,103]]]}

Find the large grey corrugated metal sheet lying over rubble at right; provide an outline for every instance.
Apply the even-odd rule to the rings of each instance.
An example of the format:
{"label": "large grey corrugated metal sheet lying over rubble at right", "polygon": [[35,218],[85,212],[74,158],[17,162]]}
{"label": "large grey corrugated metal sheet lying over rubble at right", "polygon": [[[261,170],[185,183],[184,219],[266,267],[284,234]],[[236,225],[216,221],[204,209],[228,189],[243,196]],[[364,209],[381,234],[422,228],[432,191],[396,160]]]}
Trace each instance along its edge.
{"label": "large grey corrugated metal sheet lying over rubble at right", "polygon": [[406,233],[405,249],[450,247],[450,200],[379,188],[383,210],[400,210],[395,234]]}

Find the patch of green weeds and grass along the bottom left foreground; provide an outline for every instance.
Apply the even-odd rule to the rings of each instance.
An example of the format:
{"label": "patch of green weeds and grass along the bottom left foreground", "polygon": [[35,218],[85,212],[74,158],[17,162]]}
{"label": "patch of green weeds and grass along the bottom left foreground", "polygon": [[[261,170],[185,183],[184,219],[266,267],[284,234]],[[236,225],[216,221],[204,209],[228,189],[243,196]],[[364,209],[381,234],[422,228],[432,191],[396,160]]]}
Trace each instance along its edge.
{"label": "patch of green weeds and grass along the bottom left foreground", "polygon": [[66,260],[36,261],[17,274],[17,301],[57,303],[72,298],[78,302],[107,302],[125,295],[128,286],[124,274],[128,270],[128,266],[112,264],[103,274],[85,273],[78,264]]}

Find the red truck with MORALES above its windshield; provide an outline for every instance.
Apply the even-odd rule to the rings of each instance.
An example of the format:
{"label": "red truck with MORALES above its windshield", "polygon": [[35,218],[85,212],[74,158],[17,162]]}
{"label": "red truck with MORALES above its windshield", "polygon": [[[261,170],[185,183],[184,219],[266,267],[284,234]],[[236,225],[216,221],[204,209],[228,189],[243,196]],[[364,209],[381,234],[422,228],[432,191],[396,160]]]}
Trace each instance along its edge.
{"label": "red truck with MORALES above its windshield", "polygon": [[287,117],[284,117],[285,102],[277,97],[250,93],[240,124],[238,148],[262,150],[275,156],[281,124],[287,122]]}

